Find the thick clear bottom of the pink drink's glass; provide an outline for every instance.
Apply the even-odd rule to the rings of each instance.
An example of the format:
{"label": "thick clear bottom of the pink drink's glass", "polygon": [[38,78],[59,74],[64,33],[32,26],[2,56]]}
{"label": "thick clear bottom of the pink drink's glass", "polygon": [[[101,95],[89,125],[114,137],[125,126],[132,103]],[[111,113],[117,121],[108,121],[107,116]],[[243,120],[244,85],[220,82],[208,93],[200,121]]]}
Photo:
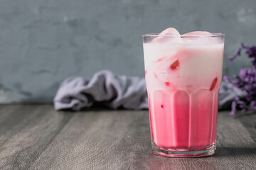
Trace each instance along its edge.
{"label": "thick clear bottom of the pink drink's glass", "polygon": [[215,153],[216,145],[213,143],[206,149],[181,151],[180,149],[163,149],[157,147],[154,142],[151,142],[153,154],[161,157],[206,157]]}

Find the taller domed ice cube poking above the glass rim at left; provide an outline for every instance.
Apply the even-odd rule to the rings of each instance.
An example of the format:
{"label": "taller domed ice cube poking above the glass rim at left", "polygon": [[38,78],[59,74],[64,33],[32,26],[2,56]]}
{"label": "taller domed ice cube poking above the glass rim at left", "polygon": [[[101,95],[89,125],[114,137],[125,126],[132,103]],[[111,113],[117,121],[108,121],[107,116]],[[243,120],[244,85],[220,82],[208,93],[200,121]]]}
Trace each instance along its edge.
{"label": "taller domed ice cube poking above the glass rim at left", "polygon": [[183,40],[181,39],[181,35],[178,33],[178,30],[175,28],[167,28],[166,30],[163,30],[161,33],[159,33],[159,36],[154,38],[152,42],[171,42],[180,44],[183,43]]}

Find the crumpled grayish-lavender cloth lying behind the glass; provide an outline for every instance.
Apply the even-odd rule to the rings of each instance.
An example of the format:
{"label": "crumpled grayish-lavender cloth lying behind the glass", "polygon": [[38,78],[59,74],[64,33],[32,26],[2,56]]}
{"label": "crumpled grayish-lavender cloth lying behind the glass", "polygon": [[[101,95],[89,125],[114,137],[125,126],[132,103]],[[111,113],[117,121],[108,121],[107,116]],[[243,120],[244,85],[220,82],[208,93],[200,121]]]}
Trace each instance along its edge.
{"label": "crumpled grayish-lavender cloth lying behind the glass", "polygon": [[[223,81],[220,87],[219,108],[230,109],[236,96],[245,96],[245,93]],[[97,72],[91,80],[82,77],[65,79],[60,84],[53,102],[56,110],[80,111],[94,103],[101,103],[110,108],[149,108],[144,78],[120,76],[107,70]]]}

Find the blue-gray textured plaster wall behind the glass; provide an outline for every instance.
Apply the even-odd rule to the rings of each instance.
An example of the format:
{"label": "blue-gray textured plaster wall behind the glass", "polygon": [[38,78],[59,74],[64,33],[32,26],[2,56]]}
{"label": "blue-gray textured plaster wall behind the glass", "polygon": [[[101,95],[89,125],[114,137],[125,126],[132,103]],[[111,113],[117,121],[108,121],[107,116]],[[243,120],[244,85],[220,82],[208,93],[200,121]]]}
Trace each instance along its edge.
{"label": "blue-gray textured plaster wall behind the glass", "polygon": [[142,34],[225,33],[224,74],[240,42],[256,45],[255,0],[0,0],[0,103],[50,101],[63,79],[100,69],[144,76]]}

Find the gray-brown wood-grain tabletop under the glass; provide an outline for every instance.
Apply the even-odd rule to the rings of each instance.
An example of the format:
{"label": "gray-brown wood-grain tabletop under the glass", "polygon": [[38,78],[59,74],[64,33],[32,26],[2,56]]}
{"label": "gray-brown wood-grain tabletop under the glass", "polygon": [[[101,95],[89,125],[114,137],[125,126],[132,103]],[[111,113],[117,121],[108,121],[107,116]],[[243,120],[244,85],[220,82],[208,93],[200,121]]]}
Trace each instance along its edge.
{"label": "gray-brown wood-grain tabletop under the glass", "polygon": [[0,106],[0,169],[256,169],[256,114],[218,114],[212,157],[151,154],[148,111]]}

